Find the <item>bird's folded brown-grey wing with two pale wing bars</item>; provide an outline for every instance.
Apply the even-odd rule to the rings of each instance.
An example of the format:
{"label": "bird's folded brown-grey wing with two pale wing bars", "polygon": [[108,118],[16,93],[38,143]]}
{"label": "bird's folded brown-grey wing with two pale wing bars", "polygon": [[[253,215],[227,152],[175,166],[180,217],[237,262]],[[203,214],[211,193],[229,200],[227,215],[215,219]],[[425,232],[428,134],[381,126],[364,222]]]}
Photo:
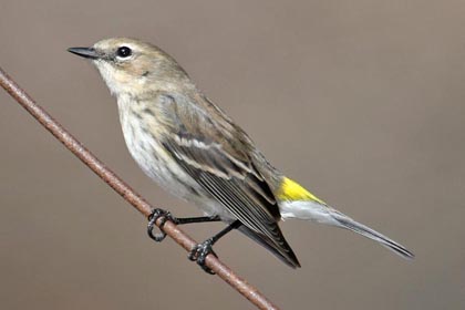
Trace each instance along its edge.
{"label": "bird's folded brown-grey wing with two pale wing bars", "polygon": [[275,196],[249,157],[252,145],[244,132],[216,106],[194,106],[185,96],[165,100],[164,117],[170,117],[173,127],[162,143],[173,158],[242,225],[299,266],[279,229]]}

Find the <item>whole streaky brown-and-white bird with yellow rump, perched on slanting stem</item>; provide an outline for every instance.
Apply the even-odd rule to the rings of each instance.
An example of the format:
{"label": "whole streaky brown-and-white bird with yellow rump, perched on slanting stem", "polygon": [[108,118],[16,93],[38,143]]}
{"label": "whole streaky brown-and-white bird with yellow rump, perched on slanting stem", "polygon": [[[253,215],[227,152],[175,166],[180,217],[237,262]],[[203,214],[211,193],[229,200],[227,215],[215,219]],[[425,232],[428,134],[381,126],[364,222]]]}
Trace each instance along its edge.
{"label": "whole streaky brown-and-white bird with yellow rump, perched on slanting stem", "polygon": [[238,229],[292,268],[300,264],[278,223],[298,218],[345,228],[380,242],[404,258],[413,254],[382,234],[329,206],[265,158],[252,140],[214,104],[183,68],[159,48],[135,39],[113,38],[90,48],[70,48],[87,58],[116,97],[127,148],[138,166],[170,194],[205,214],[175,224],[221,220],[228,226],[197,245],[189,258],[206,271],[213,245]]}

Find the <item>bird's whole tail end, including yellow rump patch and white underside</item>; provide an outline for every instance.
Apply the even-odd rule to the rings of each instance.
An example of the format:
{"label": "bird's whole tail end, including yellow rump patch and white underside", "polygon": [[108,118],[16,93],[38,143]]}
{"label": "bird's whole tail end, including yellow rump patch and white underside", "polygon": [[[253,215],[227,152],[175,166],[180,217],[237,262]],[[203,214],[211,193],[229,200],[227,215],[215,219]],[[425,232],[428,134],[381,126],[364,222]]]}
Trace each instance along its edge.
{"label": "bird's whole tail end, including yellow rump patch and white underside", "polygon": [[329,207],[289,178],[283,179],[277,197],[280,200],[279,210],[283,219],[299,218],[345,228],[380,242],[404,258],[412,259],[414,257],[404,246]]}

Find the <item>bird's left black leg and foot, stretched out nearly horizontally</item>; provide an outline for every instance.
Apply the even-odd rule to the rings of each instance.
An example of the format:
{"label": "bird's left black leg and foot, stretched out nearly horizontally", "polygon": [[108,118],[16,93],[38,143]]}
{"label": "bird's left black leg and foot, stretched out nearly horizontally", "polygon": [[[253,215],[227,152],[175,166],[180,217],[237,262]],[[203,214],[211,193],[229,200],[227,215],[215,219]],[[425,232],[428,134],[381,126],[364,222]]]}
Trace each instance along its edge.
{"label": "bird's left black leg and foot, stretched out nearly horizontally", "polygon": [[[162,218],[159,224],[159,234],[154,234],[155,223],[158,218]],[[151,215],[148,216],[148,225],[147,225],[147,234],[148,237],[154,239],[157,242],[162,242],[163,239],[166,237],[166,232],[163,231],[163,226],[167,220],[173,221],[176,225],[183,224],[190,224],[190,223],[205,223],[205,221],[219,221],[221,220],[218,216],[200,216],[200,217],[186,217],[186,218],[177,218],[174,217],[169,211],[164,209],[153,209]]]}

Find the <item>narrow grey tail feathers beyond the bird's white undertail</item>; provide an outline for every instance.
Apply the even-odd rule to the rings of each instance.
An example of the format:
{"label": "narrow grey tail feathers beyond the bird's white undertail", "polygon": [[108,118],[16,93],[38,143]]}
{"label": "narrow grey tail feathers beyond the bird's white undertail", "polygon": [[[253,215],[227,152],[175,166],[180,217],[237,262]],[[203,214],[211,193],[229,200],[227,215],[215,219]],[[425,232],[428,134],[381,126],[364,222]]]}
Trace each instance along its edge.
{"label": "narrow grey tail feathers beyond the bird's white undertail", "polygon": [[340,214],[338,211],[333,211],[330,214],[332,218],[338,221],[338,226],[358,232],[366,238],[375,240],[380,242],[382,246],[386,247],[388,249],[394,251],[395,254],[402,256],[406,259],[413,259],[415,256],[407,250],[404,246],[391,240],[390,238],[383,236],[382,234],[371,229],[370,227],[360,224],[350,217]]}

